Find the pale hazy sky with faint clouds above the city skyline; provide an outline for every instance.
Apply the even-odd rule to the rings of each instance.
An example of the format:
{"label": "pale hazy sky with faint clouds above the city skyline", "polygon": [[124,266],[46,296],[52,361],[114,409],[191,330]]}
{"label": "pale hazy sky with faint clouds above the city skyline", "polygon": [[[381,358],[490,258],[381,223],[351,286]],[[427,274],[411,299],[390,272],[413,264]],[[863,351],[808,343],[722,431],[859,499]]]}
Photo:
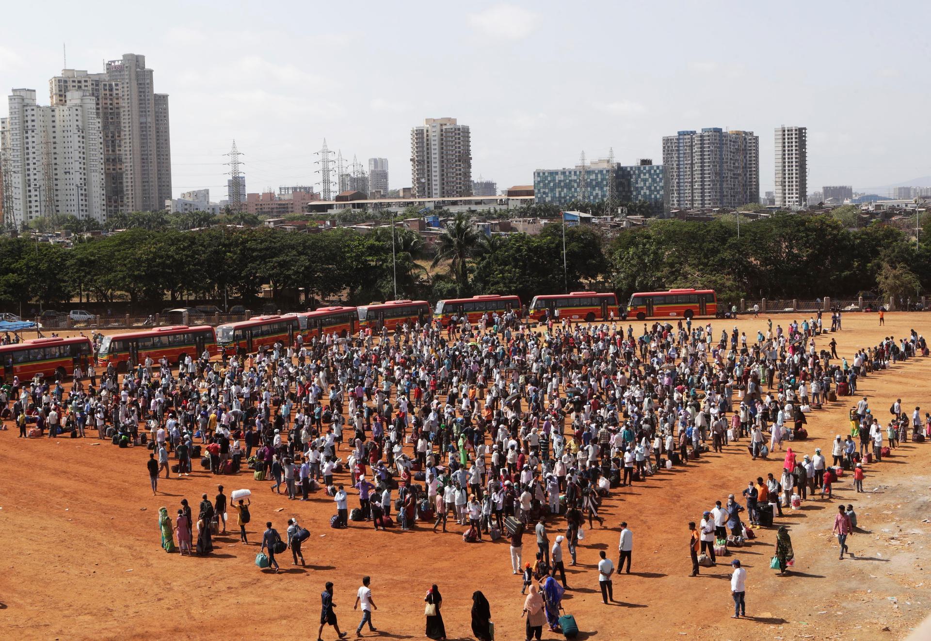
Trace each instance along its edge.
{"label": "pale hazy sky with faint clouds above the city skyline", "polygon": [[[809,191],[931,176],[927,2],[12,3],[0,87],[144,54],[170,94],[173,188],[317,182],[324,138],[411,185],[410,129],[452,116],[499,188],[588,158],[662,161],[679,129],[808,127]],[[41,29],[36,24],[41,23]],[[0,114],[6,115],[3,101]]]}

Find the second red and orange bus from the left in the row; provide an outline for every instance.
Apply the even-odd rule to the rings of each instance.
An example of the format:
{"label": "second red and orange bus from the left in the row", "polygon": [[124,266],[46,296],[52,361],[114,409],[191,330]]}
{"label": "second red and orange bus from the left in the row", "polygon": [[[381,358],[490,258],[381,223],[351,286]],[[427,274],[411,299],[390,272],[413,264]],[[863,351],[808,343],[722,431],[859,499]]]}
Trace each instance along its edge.
{"label": "second red and orange bus from the left in the row", "polygon": [[113,363],[117,369],[127,369],[136,367],[147,356],[155,363],[162,357],[168,358],[170,363],[178,363],[185,356],[200,358],[205,350],[212,354],[216,345],[213,327],[208,325],[153,327],[104,336],[97,351],[97,364],[107,367]]}

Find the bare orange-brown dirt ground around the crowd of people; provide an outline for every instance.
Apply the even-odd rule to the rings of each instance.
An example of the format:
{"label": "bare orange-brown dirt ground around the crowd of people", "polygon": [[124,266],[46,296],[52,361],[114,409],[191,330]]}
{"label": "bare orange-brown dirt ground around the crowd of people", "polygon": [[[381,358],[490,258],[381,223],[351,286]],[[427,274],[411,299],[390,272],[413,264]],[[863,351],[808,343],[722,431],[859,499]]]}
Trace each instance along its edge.
{"label": "bare orange-brown dirt ground around the crowd of people", "polygon": [[[791,320],[776,315],[776,323]],[[802,320],[801,314],[798,320]],[[715,335],[722,321],[712,322]],[[884,335],[905,336],[911,327],[931,333],[931,314],[845,314],[834,336],[838,352]],[[730,327],[732,322],[726,322]],[[738,323],[755,336],[765,318]],[[825,339],[819,342],[824,344]],[[884,421],[897,397],[902,406],[931,410],[931,359],[916,358],[860,381],[860,393]],[[793,444],[800,458],[815,447],[829,451],[834,434],[848,429],[851,398],[809,415],[811,438]],[[371,575],[378,610],[373,621],[387,639],[424,638],[423,596],[431,583],[444,595],[443,616],[451,639],[471,638],[471,594],[482,590],[492,605],[496,638],[523,639],[520,581],[510,573],[506,541],[466,544],[463,527],[433,534],[422,524],[412,532],[399,527],[374,532],[367,524],[346,530],[329,527],[335,506],[317,494],[313,501],[288,501],[265,494],[268,482],[251,473],[213,477],[197,471],[182,479],[164,477],[151,496],[145,461],[148,450],[123,449],[96,438],[16,438],[0,433],[0,635],[4,638],[265,638],[315,639],[319,593],[335,583],[336,613],[354,636],[360,612],[353,611],[363,575]],[[95,434],[90,431],[88,434]],[[704,455],[686,467],[663,471],[633,488],[613,490],[605,501],[604,528],[587,531],[579,548],[580,565],[567,568],[571,590],[563,605],[589,639],[822,639],[845,641],[900,639],[931,605],[931,549],[928,518],[931,444],[911,442],[891,459],[867,466],[867,493],[857,495],[849,476],[835,485],[835,499],[806,501],[775,524],[790,527],[796,554],[787,577],[769,569],[776,528],[757,530],[759,539],[735,551],[748,570],[749,618],[730,618],[729,565],[703,568],[688,576],[686,523],[698,521],[714,501],[739,493],[750,478],[781,472],[778,452],[770,461],[751,461],[746,442]],[[343,481],[337,475],[337,482]],[[282,574],[260,571],[253,561],[258,545],[235,535],[219,537],[216,554],[182,557],[159,546],[159,506],[175,514],[186,497],[196,510],[202,492],[212,498],[217,483],[227,494],[252,490],[250,541],[258,541],[266,520],[279,531],[296,515],[311,531],[304,544],[307,568],[279,555]],[[738,494],[739,496],[739,494]],[[356,504],[350,497],[350,506]],[[830,535],[837,505],[853,503],[864,530],[850,537],[854,559],[837,558]],[[596,565],[605,550],[617,561],[618,523],[633,532],[633,572],[614,581],[619,603],[602,605]],[[550,533],[550,538],[555,532]],[[524,551],[531,554],[532,537]],[[568,560],[568,552],[566,552]],[[730,559],[725,559],[729,562]],[[927,567],[927,569],[925,569]],[[364,631],[366,636],[374,634]],[[335,638],[331,629],[325,639]],[[544,632],[544,638],[562,638]]]}

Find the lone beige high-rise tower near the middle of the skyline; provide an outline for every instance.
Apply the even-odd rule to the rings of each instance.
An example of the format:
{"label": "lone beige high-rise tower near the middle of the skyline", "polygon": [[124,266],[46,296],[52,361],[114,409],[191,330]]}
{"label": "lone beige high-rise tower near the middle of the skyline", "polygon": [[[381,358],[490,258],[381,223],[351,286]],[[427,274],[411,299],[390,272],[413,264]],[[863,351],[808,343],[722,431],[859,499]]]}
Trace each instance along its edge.
{"label": "lone beige high-rise tower near the middle of the skyline", "polygon": [[472,195],[469,127],[455,118],[425,118],[412,127],[411,180],[416,198]]}

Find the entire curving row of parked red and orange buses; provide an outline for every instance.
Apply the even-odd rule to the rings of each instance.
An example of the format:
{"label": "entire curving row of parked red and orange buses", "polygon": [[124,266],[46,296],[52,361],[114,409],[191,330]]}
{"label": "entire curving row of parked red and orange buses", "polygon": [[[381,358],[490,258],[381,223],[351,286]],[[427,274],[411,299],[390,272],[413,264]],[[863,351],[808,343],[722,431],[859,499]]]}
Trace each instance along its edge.
{"label": "entire curving row of parked red and orange buses", "polygon": [[[299,334],[304,341],[309,341],[334,333],[346,337],[356,334],[360,328],[381,331],[385,327],[392,331],[405,323],[424,325],[436,321],[446,327],[453,317],[467,317],[470,323],[478,323],[483,314],[504,315],[511,311],[517,314],[524,311],[517,296],[492,294],[439,300],[432,312],[425,300],[388,300],[359,307],[323,307],[313,312],[256,316],[216,329],[206,325],[154,327],[104,336],[96,354],[96,363],[98,367],[113,363],[122,370],[127,364],[140,363],[146,357],[155,363],[162,357],[177,363],[186,356],[197,358],[205,351],[209,354],[248,354],[276,342],[292,345]],[[618,307],[614,293],[573,291],[534,296],[526,312],[532,321],[538,323],[550,318],[591,323],[629,317],[645,320],[714,316],[718,313],[718,304],[711,289],[638,292],[630,297],[626,309]],[[61,378],[70,375],[75,366],[86,365],[91,354],[90,340],[85,337],[35,339],[0,345],[0,380],[11,381],[14,376],[31,379],[35,374]]]}

